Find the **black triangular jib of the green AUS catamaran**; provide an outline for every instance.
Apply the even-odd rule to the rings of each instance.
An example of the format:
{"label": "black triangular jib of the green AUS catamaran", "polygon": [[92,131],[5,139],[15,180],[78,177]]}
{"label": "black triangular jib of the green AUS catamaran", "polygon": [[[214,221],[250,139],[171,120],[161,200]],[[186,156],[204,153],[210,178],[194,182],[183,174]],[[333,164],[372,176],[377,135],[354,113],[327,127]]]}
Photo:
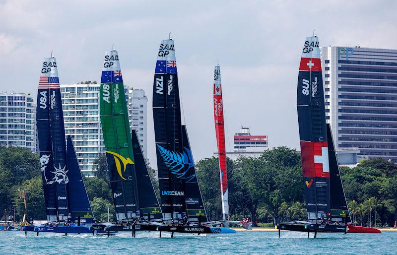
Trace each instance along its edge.
{"label": "black triangular jib of the green AUS catamaran", "polygon": [[133,158],[135,159],[136,183],[138,185],[140,215],[141,217],[147,218],[147,215],[150,214],[150,219],[162,219],[163,214],[149,172],[147,171],[146,161],[143,157],[135,129],[132,129],[131,136]]}

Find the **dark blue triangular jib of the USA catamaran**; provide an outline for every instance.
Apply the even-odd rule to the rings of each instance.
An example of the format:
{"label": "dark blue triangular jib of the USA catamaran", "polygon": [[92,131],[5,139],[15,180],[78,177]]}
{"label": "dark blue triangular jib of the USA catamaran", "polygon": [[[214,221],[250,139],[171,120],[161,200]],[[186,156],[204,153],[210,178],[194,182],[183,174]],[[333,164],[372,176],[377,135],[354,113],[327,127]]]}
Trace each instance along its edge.
{"label": "dark blue triangular jib of the USA catamaran", "polygon": [[83,176],[81,175],[80,166],[78,165],[77,156],[74,151],[73,142],[70,135],[67,136],[67,166],[69,168],[67,191],[69,195],[69,211],[72,222],[77,222],[80,216],[80,222],[94,223],[95,218],[92,213],[90,200]]}

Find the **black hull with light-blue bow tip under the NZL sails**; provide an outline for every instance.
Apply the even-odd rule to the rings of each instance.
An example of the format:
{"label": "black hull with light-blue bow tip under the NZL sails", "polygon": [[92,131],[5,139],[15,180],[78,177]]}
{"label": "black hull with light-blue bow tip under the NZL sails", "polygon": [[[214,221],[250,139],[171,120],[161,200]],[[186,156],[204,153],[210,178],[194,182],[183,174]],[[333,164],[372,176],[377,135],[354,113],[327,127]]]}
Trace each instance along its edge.
{"label": "black hull with light-blue bow tip under the NZL sails", "polygon": [[230,228],[217,228],[207,226],[171,226],[162,225],[158,227],[158,231],[173,233],[189,233],[189,234],[235,234],[235,230]]}

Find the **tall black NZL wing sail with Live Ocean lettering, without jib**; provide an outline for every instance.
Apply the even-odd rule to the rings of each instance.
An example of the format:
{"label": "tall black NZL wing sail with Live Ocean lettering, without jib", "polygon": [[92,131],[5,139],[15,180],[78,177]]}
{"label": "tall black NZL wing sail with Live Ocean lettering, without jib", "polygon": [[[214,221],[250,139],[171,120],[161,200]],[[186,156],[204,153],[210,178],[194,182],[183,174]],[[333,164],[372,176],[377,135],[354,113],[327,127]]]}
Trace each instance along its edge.
{"label": "tall black NZL wing sail with Live Ocean lettering, without jib", "polygon": [[153,81],[153,120],[161,209],[165,220],[185,212],[181,111],[174,40],[162,40]]}

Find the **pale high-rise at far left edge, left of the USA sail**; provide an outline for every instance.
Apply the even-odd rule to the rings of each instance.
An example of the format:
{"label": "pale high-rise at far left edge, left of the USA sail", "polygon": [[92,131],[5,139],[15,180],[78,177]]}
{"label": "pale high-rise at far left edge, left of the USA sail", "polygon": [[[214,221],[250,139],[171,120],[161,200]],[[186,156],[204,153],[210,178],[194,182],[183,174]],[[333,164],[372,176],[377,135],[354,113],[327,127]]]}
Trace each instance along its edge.
{"label": "pale high-rise at far left edge, left of the USA sail", "polygon": [[0,145],[36,152],[36,109],[30,94],[0,93]]}

